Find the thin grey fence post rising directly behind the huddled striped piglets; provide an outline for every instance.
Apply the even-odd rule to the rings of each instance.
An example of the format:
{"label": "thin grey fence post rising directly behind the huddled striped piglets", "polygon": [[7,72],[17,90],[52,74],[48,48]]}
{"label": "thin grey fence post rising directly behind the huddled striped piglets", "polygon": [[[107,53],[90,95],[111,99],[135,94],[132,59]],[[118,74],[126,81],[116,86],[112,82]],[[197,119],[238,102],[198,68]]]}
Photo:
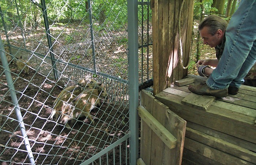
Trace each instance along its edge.
{"label": "thin grey fence post rising directly behind the huddled striped piglets", "polygon": [[94,73],[97,73],[96,68],[96,60],[95,60],[95,47],[94,47],[94,36],[93,36],[93,19],[91,15],[91,0],[88,0],[88,12],[89,12],[89,19],[90,19],[90,31],[91,31],[91,49],[93,51],[93,67],[94,67]]}

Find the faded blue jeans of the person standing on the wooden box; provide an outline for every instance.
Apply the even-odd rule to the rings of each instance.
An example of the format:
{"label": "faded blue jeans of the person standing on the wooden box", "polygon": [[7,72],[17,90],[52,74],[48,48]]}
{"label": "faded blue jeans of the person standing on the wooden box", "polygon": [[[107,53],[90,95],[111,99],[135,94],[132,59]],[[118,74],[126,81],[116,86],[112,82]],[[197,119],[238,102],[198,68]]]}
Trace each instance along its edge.
{"label": "faded blue jeans of the person standing on the wooden box", "polygon": [[211,89],[240,87],[256,62],[256,0],[242,0],[226,29],[218,66],[206,83]]}

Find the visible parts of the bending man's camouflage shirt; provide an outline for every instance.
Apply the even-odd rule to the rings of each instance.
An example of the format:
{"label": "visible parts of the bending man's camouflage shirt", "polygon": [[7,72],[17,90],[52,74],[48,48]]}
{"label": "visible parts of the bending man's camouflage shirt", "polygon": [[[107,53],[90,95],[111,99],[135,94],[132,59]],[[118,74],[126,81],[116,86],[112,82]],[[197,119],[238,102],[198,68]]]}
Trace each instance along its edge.
{"label": "visible parts of the bending man's camouflage shirt", "polygon": [[[224,47],[225,47],[225,42],[226,42],[226,36],[224,34],[222,43],[218,44],[215,47],[215,51],[216,51],[216,57],[219,60],[222,56]],[[256,79],[256,63],[252,66],[251,70],[248,72],[248,74],[245,76],[244,79]]]}

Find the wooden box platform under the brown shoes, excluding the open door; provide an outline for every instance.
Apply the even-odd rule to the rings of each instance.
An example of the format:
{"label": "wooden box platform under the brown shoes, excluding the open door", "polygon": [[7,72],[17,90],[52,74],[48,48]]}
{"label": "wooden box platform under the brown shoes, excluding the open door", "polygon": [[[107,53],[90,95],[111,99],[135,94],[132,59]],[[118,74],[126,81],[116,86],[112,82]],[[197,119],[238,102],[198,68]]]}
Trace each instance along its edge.
{"label": "wooden box platform under the brown shoes, excluding the open door", "polygon": [[[194,78],[194,83],[206,80],[187,78]],[[174,85],[155,95],[187,121],[184,162],[256,164],[256,88],[241,86],[237,95],[213,99],[193,97],[188,86]],[[207,103],[200,105],[199,99]]]}

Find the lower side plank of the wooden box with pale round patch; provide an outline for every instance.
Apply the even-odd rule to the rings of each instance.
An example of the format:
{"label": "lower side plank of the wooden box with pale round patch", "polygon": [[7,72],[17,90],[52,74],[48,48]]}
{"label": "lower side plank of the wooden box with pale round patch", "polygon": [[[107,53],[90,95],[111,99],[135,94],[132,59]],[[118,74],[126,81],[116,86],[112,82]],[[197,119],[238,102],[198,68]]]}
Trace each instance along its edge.
{"label": "lower side plank of the wooden box with pale round patch", "polygon": [[220,162],[222,164],[230,165],[253,165],[253,163],[242,160],[241,158],[235,157],[228,153],[222,152],[221,150],[212,148],[195,140],[185,137],[184,148],[187,148],[193,152],[199,153],[205,157],[208,157],[212,160]]}

